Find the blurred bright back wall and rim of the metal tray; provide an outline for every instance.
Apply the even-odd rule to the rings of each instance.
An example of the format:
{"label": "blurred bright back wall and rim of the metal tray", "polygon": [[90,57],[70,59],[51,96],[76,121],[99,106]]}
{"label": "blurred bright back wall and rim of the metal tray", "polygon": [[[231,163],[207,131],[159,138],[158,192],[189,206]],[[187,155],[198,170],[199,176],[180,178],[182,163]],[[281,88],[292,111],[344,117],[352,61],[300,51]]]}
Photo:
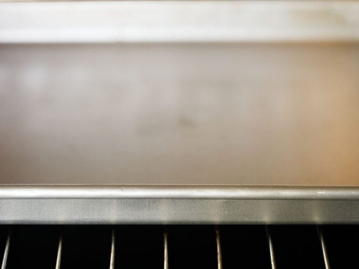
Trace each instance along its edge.
{"label": "blurred bright back wall and rim of the metal tray", "polygon": [[358,41],[357,1],[0,3],[0,42]]}

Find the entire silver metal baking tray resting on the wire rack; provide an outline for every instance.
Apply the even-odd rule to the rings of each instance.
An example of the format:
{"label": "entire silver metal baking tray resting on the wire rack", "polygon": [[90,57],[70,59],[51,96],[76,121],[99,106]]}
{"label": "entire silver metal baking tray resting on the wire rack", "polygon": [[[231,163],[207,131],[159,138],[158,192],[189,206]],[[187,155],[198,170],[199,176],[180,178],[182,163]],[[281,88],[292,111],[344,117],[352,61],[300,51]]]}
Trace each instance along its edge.
{"label": "entire silver metal baking tray resting on the wire rack", "polygon": [[358,222],[358,14],[0,3],[0,222]]}

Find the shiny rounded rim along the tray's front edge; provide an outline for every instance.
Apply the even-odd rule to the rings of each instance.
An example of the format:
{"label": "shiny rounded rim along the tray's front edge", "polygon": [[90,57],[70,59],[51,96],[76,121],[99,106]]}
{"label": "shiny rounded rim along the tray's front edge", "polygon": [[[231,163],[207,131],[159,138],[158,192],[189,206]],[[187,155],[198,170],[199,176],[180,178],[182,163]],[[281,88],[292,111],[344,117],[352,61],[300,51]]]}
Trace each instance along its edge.
{"label": "shiny rounded rim along the tray's front edge", "polygon": [[359,200],[359,187],[244,185],[1,185],[0,199]]}

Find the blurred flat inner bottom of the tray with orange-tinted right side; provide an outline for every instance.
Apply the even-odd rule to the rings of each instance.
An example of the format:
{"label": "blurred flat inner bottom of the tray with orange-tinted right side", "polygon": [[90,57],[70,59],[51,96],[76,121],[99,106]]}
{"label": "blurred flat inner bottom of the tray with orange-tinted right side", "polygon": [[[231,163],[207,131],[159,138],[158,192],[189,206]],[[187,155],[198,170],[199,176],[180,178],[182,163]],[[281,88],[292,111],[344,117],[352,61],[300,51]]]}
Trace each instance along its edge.
{"label": "blurred flat inner bottom of the tray with orange-tinted right side", "polygon": [[359,45],[0,45],[0,183],[359,185]]}

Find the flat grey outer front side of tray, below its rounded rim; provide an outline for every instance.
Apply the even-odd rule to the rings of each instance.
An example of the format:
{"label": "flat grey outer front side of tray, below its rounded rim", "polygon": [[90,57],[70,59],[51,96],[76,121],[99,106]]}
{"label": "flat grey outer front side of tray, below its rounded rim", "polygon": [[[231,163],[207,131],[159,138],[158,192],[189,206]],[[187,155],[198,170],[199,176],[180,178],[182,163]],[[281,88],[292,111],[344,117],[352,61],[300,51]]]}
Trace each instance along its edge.
{"label": "flat grey outer front side of tray, below its rounded rim", "polygon": [[358,200],[3,199],[0,224],[359,223]]}

